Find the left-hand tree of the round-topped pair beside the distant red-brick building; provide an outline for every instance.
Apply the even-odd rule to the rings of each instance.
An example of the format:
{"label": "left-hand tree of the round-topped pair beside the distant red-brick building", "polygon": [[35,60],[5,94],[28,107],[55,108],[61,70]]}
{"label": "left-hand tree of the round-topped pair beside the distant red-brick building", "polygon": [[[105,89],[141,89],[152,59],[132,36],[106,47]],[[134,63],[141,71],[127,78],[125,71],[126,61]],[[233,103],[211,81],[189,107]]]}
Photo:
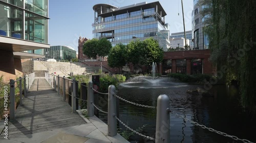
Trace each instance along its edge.
{"label": "left-hand tree of the round-topped pair beside the distant red-brick building", "polygon": [[92,40],[87,40],[83,44],[83,54],[87,55],[88,58],[96,59],[96,56],[98,54],[97,44],[98,39],[94,38]]}

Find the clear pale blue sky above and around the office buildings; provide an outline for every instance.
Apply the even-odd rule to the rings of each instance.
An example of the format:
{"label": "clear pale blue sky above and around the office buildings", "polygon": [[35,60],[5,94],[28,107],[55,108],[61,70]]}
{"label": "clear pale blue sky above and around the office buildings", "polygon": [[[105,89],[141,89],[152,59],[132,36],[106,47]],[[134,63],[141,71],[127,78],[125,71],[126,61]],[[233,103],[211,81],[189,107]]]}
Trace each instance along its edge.
{"label": "clear pale blue sky above and around the office buildings", "polygon": [[[109,4],[116,7],[136,3],[152,3],[157,0],[50,0],[49,1],[49,39],[51,46],[71,46],[78,51],[78,39],[92,39],[92,23],[94,22],[93,6]],[[159,0],[166,12],[165,23],[169,23],[170,34],[183,32],[181,0]],[[191,12],[193,0],[183,0],[184,21],[186,31],[191,30]],[[179,13],[179,15],[178,15]]]}

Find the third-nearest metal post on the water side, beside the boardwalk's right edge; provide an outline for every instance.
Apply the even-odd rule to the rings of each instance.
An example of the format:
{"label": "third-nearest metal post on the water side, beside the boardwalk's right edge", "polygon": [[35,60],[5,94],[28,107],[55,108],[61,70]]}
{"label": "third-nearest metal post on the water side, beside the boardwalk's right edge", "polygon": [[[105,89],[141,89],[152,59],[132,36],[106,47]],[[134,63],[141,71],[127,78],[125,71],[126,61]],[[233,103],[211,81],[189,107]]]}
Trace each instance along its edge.
{"label": "third-nearest metal post on the water side, beside the boardwalk's right edge", "polygon": [[88,98],[87,98],[87,114],[88,117],[94,116],[94,106],[92,103],[94,103],[94,97],[93,97],[93,81],[88,82]]}

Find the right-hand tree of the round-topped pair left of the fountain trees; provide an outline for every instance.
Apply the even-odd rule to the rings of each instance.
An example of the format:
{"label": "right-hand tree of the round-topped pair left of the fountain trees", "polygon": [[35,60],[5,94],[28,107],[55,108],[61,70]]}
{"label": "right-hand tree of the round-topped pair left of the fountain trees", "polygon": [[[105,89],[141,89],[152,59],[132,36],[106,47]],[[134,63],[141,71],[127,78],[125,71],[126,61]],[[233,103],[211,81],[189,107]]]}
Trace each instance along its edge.
{"label": "right-hand tree of the round-topped pair left of the fountain trees", "polygon": [[98,56],[106,56],[109,54],[112,44],[106,38],[101,38],[97,43],[97,54]]}

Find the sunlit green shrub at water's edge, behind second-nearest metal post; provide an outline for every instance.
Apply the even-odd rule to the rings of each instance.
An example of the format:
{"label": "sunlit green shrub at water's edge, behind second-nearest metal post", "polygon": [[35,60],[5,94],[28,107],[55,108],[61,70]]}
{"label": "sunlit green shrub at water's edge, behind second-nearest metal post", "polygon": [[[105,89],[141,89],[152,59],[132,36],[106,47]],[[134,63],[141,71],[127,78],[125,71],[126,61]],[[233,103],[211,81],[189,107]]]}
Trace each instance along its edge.
{"label": "sunlit green shrub at water's edge, behind second-nearest metal post", "polygon": [[115,85],[115,87],[118,87],[118,84],[120,82],[124,82],[126,79],[125,76],[123,75],[109,75],[109,74],[104,74],[101,75],[100,77],[100,92],[105,92],[107,93],[109,90],[110,85]]}

